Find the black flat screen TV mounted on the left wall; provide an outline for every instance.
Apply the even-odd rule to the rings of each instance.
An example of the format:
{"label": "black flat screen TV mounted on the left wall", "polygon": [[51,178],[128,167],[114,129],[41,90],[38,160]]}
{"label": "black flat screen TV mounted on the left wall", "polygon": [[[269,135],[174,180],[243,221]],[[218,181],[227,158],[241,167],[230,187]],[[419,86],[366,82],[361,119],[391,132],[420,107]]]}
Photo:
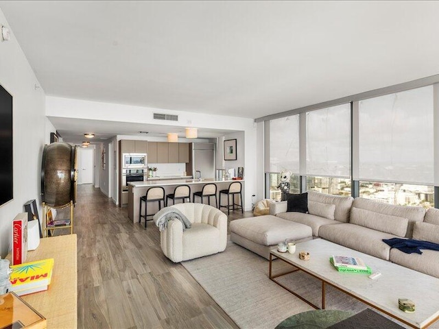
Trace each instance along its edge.
{"label": "black flat screen TV mounted on the left wall", "polygon": [[0,85],[0,206],[14,197],[12,96]]}

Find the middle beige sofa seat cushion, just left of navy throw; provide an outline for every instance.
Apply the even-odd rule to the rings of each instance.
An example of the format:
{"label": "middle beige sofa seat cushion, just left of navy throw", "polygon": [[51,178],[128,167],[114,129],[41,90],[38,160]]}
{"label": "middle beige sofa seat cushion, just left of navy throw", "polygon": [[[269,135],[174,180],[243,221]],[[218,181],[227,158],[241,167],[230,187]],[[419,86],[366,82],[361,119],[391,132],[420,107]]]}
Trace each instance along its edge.
{"label": "middle beige sofa seat cushion, just left of navy throw", "polygon": [[318,230],[323,239],[344,245],[365,254],[389,260],[390,246],[383,243],[383,239],[392,239],[395,236],[385,232],[365,228],[351,223],[338,225],[324,225]]}

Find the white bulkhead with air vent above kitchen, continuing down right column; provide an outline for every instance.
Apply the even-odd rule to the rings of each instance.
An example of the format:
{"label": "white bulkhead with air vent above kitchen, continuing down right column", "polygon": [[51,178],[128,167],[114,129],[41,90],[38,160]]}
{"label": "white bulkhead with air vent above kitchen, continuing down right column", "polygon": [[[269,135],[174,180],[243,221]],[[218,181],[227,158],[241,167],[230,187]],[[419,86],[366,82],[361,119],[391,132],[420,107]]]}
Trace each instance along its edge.
{"label": "white bulkhead with air vent above kitchen, continuing down right column", "polygon": [[[123,104],[102,103],[98,101],[67,99],[52,96],[46,97],[47,117],[156,124],[157,122],[154,121],[152,116],[152,113],[156,110],[157,109],[145,108],[142,106],[129,106]],[[161,111],[163,112],[163,110]],[[166,112],[171,113],[172,111],[166,110]],[[245,204],[246,209],[251,210],[252,194],[257,193],[257,135],[256,125],[254,124],[253,120],[248,118],[230,118],[217,114],[204,114],[185,111],[178,111],[174,113],[178,114],[179,121],[168,121],[165,123],[166,125],[180,126],[186,125],[186,123],[190,121],[192,127],[244,132],[244,149],[241,154],[244,154],[243,160],[244,163],[247,164],[247,166],[244,166],[244,174],[246,175]],[[133,137],[131,136],[131,138]],[[119,136],[118,139],[120,139]],[[149,138],[145,137],[145,139],[148,140]],[[220,146],[222,147],[222,145]],[[101,188],[103,191],[105,191],[105,188],[102,187],[102,184],[103,182],[101,182]]]}

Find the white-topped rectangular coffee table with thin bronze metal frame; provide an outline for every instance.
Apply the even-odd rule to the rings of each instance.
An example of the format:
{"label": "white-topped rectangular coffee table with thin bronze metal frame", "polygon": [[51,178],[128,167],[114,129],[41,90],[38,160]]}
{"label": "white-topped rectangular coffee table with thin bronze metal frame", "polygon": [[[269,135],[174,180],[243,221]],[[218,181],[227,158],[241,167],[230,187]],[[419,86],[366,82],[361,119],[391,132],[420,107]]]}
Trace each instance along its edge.
{"label": "white-topped rectangular coffee table with thin bronze metal frame", "polygon": [[[300,251],[309,252],[311,259],[300,260],[298,257]],[[329,263],[329,257],[332,255],[360,257],[372,269],[372,272],[381,272],[381,276],[377,280],[372,280],[368,278],[368,274],[338,272]],[[272,275],[273,256],[296,267],[297,269],[293,271],[305,271],[322,281],[322,309],[325,308],[325,285],[329,284],[413,328],[427,328],[439,319],[439,278],[427,276],[427,274],[323,239],[298,243],[294,254],[272,249],[270,251],[270,279],[314,308],[320,307],[305,300],[276,280],[293,271]],[[416,304],[416,312],[405,313],[400,310],[398,298],[412,300]]]}

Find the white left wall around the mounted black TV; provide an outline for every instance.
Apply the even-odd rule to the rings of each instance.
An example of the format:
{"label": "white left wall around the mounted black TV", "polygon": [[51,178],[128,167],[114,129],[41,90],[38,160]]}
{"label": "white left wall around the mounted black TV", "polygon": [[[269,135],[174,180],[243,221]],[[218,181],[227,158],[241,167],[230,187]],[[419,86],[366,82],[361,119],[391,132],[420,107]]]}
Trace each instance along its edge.
{"label": "white left wall around the mounted black TV", "polygon": [[[10,28],[0,10],[0,24]],[[45,118],[45,93],[11,30],[9,41],[0,41],[0,84],[13,97],[14,199],[0,206],[0,256],[8,254],[12,219],[23,204],[36,199],[42,217],[40,174],[43,147],[52,127]]]}

